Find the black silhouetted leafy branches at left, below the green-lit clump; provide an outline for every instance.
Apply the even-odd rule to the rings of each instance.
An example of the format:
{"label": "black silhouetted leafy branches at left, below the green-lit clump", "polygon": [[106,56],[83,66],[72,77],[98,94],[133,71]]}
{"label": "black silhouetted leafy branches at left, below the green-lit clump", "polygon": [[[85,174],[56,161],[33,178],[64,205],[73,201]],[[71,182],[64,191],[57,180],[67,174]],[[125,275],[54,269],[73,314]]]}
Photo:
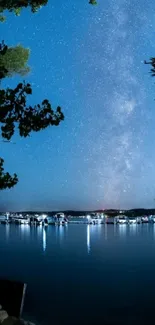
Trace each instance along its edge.
{"label": "black silhouetted leafy branches at left, below the green-lit clump", "polygon": [[[15,89],[0,90],[0,124],[1,136],[8,141],[16,130],[21,137],[27,137],[32,131],[38,132],[49,126],[57,126],[64,120],[61,108],[54,112],[47,99],[41,105],[27,106],[26,96],[32,94],[30,84],[19,83]],[[0,190],[11,188],[18,182],[17,175],[13,177],[3,172],[4,160],[0,158]]]}

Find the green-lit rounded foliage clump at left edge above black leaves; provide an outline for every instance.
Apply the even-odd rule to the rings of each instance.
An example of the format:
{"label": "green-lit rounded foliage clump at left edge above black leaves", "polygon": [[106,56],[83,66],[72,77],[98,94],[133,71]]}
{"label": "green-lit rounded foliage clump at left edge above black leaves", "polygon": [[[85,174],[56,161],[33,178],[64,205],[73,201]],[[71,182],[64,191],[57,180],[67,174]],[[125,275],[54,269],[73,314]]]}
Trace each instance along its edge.
{"label": "green-lit rounded foliage clump at left edge above black leaves", "polygon": [[14,74],[26,75],[30,71],[30,67],[27,65],[30,50],[21,45],[7,47],[3,43],[1,46],[0,71],[3,68],[6,69],[5,77],[12,77]]}

